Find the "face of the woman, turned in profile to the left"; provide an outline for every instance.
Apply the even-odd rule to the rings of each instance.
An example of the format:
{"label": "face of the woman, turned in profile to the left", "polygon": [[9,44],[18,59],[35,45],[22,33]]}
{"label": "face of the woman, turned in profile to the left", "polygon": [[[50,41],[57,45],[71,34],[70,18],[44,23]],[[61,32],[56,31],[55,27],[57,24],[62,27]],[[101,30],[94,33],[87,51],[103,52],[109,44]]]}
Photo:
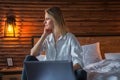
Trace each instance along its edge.
{"label": "face of the woman, turned in profile to the left", "polygon": [[48,13],[45,13],[44,24],[45,24],[45,28],[53,30],[54,23],[53,23],[51,16]]}

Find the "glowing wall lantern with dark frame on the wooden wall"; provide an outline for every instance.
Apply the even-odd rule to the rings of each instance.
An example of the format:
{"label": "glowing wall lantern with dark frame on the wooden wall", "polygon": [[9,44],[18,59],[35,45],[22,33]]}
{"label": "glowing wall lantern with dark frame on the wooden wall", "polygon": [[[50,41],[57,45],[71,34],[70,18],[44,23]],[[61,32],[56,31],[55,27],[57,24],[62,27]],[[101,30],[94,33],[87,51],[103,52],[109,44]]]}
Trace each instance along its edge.
{"label": "glowing wall lantern with dark frame on the wooden wall", "polygon": [[6,17],[4,37],[15,37],[16,19],[14,15]]}

